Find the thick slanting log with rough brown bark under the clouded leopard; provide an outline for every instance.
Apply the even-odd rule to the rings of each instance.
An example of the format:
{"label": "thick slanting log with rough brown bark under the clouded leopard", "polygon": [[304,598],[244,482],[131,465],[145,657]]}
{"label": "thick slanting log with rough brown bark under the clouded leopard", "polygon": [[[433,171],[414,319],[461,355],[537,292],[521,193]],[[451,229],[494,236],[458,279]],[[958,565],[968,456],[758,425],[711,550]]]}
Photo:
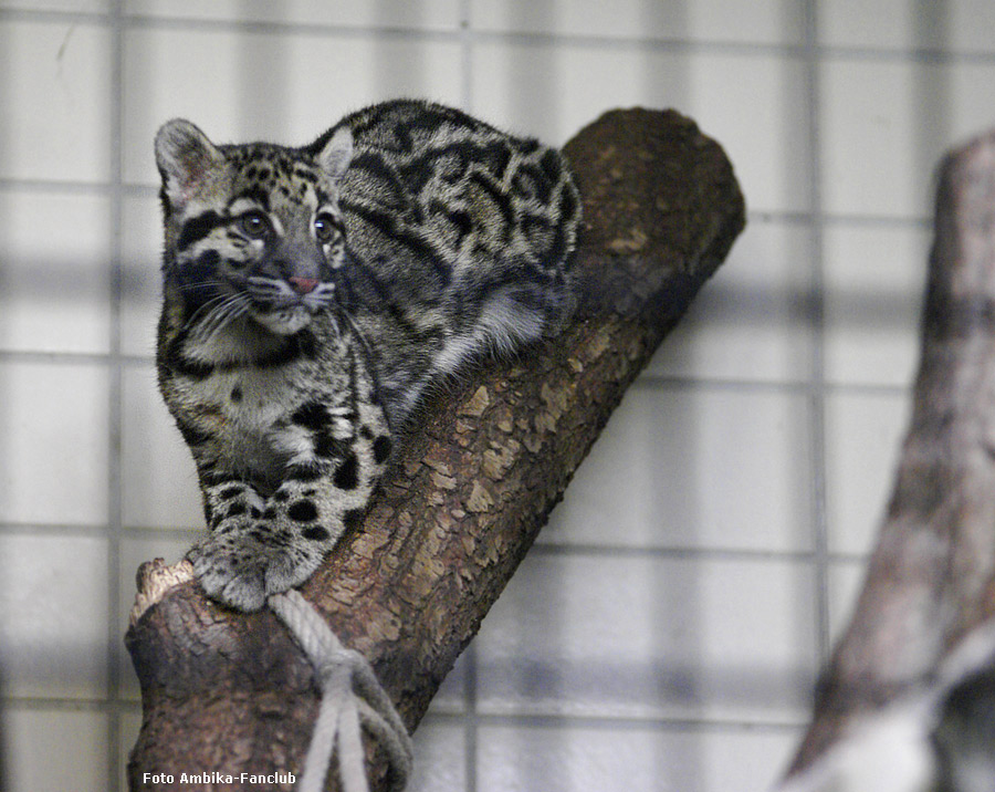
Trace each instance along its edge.
{"label": "thick slanting log with rough brown bark under the clouded leopard", "polygon": [[[369,658],[411,729],[626,387],[744,225],[721,147],[677,113],[614,111],[566,153],[585,211],[577,321],[526,358],[488,364],[440,393],[365,524],[303,590]],[[139,573],[139,588],[151,572]],[[130,788],[150,788],[145,772],[300,772],[316,692],[273,615],[224,611],[190,583],[145,597],[155,604],[126,636],[144,710]]]}

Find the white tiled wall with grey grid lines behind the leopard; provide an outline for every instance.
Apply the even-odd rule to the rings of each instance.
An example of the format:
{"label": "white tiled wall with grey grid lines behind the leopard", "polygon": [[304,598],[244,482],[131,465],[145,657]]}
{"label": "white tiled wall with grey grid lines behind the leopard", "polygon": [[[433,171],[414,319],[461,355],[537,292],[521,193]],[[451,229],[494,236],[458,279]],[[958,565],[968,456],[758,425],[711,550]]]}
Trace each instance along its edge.
{"label": "white tiled wall with grey grid lines behind the leopard", "polygon": [[995,124],[991,0],[0,0],[12,792],[124,788],[135,569],[201,521],[155,390],[157,126],[300,144],[398,95],[556,144],[677,107],[748,202],[418,730],[413,789],[762,790],[787,760],[907,420],[934,166]]}

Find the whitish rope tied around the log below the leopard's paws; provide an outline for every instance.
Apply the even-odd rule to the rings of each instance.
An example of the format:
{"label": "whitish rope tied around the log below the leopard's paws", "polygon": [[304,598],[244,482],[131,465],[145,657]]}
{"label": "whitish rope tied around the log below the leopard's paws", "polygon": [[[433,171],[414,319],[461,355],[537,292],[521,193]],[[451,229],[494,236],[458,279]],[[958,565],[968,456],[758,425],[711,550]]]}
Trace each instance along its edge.
{"label": "whitish rope tied around the log below the leopard's paws", "polygon": [[300,592],[274,594],[268,602],[307,655],[322,690],[322,705],[296,792],[321,792],[325,788],[336,749],[343,792],[369,792],[360,723],[387,752],[391,789],[402,790],[411,774],[411,738],[369,663],[342,645]]}

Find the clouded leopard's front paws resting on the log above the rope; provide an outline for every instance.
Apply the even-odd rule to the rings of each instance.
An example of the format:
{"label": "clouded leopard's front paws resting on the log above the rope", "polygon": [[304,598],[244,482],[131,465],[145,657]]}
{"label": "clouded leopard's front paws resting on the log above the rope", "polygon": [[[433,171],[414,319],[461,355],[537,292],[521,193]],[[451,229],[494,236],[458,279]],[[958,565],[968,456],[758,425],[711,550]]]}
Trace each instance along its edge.
{"label": "clouded leopard's front paws resting on the log above the rope", "polygon": [[265,528],[251,533],[216,529],[187,557],[209,597],[251,612],[259,611],[270,594],[281,594],[311,577],[323,557],[315,550]]}

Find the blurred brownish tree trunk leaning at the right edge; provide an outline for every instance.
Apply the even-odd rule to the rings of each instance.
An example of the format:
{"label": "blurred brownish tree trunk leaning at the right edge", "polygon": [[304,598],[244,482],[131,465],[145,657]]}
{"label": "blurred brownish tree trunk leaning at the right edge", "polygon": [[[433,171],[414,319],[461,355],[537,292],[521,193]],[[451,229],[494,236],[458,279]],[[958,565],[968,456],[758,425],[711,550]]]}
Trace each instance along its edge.
{"label": "blurred brownish tree trunk leaning at the right edge", "polygon": [[897,482],[790,773],[995,612],[995,133],[943,163],[934,232]]}

